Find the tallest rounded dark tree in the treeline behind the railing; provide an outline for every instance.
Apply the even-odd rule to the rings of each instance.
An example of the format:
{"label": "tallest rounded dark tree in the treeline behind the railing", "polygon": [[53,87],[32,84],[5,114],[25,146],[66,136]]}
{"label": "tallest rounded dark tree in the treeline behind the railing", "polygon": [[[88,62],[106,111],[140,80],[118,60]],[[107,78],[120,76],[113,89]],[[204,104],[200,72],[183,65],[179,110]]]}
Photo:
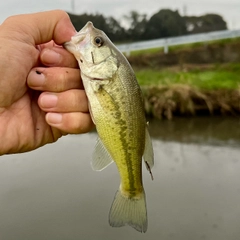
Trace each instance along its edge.
{"label": "tallest rounded dark tree in the treeline behind the railing", "polygon": [[186,34],[186,24],[178,11],[162,9],[146,24],[145,39],[180,36]]}

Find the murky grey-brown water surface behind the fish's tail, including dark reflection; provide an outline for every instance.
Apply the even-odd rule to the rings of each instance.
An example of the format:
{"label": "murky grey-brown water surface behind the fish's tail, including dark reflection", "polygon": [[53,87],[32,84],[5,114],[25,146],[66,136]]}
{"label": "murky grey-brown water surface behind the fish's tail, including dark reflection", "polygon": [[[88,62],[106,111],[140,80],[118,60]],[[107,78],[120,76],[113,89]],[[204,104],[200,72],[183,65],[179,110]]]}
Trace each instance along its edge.
{"label": "murky grey-brown water surface behind the fish's tail, including dark reflection", "polygon": [[67,136],[0,158],[0,239],[240,238],[240,120],[151,121],[154,181],[147,171],[149,228],[112,228],[115,165],[90,167],[96,135]]}

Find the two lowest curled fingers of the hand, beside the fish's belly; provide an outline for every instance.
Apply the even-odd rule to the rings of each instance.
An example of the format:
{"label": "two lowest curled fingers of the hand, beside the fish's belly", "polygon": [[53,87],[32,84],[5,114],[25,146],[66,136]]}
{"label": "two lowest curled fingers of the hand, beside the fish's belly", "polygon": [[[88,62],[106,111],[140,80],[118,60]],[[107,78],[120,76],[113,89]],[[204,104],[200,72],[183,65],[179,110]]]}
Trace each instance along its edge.
{"label": "two lowest curled fingers of the hand, beside the fish's belly", "polygon": [[85,133],[93,127],[84,90],[43,92],[38,99],[38,105],[47,112],[47,123],[64,133]]}

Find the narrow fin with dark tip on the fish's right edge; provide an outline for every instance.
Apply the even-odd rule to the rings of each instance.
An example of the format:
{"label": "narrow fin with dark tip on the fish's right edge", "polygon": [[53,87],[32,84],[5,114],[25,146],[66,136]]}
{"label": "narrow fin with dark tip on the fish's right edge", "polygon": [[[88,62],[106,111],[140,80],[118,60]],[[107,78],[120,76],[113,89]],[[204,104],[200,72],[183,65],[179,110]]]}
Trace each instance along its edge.
{"label": "narrow fin with dark tip on the fish's right edge", "polygon": [[152,141],[151,141],[147,127],[145,130],[145,149],[144,149],[144,153],[143,153],[143,159],[144,159],[146,168],[149,171],[151,178],[153,180],[153,175],[152,175],[151,169],[154,165],[154,154],[153,154]]}

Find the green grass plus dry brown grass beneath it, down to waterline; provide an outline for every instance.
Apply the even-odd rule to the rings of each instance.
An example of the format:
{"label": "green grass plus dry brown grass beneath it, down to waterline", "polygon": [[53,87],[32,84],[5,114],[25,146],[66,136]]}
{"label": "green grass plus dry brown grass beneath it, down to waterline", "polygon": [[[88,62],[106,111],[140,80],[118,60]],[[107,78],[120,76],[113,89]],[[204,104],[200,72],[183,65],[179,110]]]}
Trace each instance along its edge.
{"label": "green grass plus dry brown grass beneath it, down to waterline", "polygon": [[135,69],[148,115],[240,114],[240,63]]}

